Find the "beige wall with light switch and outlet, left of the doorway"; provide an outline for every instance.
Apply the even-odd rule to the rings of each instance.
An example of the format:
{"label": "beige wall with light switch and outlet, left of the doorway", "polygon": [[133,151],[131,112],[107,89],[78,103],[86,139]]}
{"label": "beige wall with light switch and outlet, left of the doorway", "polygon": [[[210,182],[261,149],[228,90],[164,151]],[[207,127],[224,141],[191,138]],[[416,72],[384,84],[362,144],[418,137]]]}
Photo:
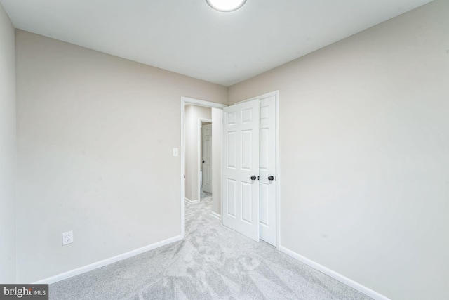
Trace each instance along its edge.
{"label": "beige wall with light switch and outlet, left of the doorway", "polygon": [[29,32],[16,42],[18,281],[180,235],[180,98],[227,103],[227,89]]}

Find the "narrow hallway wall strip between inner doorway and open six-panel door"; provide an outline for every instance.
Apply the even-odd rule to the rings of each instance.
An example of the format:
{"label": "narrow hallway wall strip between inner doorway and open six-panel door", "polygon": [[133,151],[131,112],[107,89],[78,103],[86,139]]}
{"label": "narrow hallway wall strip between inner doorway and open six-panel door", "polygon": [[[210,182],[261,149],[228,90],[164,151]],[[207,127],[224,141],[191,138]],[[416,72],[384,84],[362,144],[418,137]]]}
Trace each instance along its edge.
{"label": "narrow hallway wall strip between inner doorway and open six-panel door", "polygon": [[221,214],[222,110],[218,108],[212,108],[212,136],[212,211]]}

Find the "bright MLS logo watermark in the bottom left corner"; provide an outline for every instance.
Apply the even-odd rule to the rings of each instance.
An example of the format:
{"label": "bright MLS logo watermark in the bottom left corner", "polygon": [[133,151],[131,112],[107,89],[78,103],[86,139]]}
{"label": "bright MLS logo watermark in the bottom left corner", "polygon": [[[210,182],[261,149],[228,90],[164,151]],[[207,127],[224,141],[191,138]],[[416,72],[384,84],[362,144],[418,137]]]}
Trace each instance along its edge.
{"label": "bright MLS logo watermark in the bottom left corner", "polygon": [[0,285],[0,300],[48,300],[48,285]]}

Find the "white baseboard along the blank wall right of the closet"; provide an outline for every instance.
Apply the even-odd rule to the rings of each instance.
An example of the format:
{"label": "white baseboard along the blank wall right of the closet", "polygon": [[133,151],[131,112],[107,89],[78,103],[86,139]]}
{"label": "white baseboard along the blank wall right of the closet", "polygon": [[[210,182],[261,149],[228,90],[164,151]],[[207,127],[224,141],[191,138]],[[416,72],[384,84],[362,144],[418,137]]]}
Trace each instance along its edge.
{"label": "white baseboard along the blank wall right of the closet", "polygon": [[304,257],[300,254],[297,254],[296,252],[293,252],[292,250],[287,249],[286,247],[279,246],[279,251],[287,254],[288,256],[292,256],[294,259],[297,259],[298,261],[301,261],[302,263],[305,263],[306,265],[311,266],[315,270],[319,270],[321,273],[324,273],[324,274],[334,278],[335,280],[338,280],[338,281],[344,283],[348,287],[352,287],[353,289],[356,289],[358,292],[366,294],[366,296],[370,296],[371,298],[376,299],[376,300],[391,300],[391,299],[387,298],[386,296],[373,291],[373,289],[369,289],[368,287],[365,287],[364,285],[361,285],[360,283],[355,282],[354,280],[344,277],[343,275],[341,275],[333,270],[330,270],[329,268],[326,268],[325,266],[321,266],[319,263],[316,263],[315,261],[311,261],[310,259],[307,259],[306,257]]}

